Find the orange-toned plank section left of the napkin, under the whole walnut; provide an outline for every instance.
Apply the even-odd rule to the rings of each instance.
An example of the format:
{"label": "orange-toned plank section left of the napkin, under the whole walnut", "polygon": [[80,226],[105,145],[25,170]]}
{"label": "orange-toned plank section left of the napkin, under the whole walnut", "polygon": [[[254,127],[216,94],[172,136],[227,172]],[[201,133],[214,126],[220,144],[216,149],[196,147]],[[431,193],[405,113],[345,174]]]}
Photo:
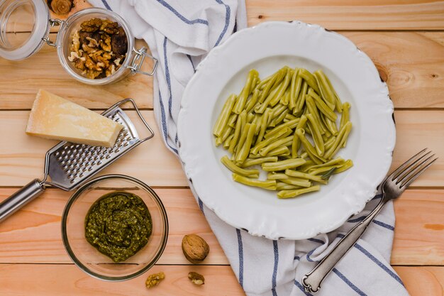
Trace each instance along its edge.
{"label": "orange-toned plank section left of the napkin, under the whole walnut", "polygon": [[[1,188],[0,201],[16,189]],[[189,263],[182,253],[185,234],[199,234],[210,245],[204,264],[228,264],[221,246],[188,189],[155,189],[170,224],[160,264]],[[0,263],[70,263],[62,244],[60,221],[70,192],[50,189],[0,224]]]}

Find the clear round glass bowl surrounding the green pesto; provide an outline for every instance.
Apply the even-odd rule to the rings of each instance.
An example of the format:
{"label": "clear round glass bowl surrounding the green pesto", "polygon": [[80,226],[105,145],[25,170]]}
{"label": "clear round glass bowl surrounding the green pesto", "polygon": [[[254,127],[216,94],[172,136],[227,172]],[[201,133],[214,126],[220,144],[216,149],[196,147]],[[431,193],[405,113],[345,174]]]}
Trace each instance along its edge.
{"label": "clear round glass bowl surrounding the green pesto", "polygon": [[[145,202],[152,219],[148,243],[126,261],[115,263],[91,246],[85,238],[85,217],[94,202],[104,194],[124,191]],[[97,177],[72,194],[62,214],[62,240],[75,265],[94,278],[120,281],[135,278],[149,270],[167,244],[167,212],[157,194],[145,183],[125,175]]]}

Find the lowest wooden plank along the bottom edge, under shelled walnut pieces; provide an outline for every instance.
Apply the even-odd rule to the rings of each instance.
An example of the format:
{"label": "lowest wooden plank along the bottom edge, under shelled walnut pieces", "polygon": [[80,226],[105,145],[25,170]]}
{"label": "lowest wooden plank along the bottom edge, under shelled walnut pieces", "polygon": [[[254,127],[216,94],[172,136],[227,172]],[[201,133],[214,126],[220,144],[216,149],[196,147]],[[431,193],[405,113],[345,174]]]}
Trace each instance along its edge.
{"label": "lowest wooden plank along the bottom edge, under shelled walnut pieces", "polygon": [[[394,269],[401,275],[411,296],[443,295],[444,267],[394,266]],[[0,264],[0,278],[3,281],[2,283],[6,283],[1,287],[2,292],[4,292],[2,295],[245,295],[229,266],[155,265],[150,273],[160,271],[165,273],[165,280],[157,287],[147,290],[145,287],[146,276],[140,276],[123,283],[109,283],[89,277],[72,264]],[[205,285],[193,285],[187,278],[190,271],[205,275]],[[60,275],[63,276],[63,280],[61,280]],[[421,285],[418,285],[418,283],[421,283]],[[23,294],[17,294],[16,291],[23,291]]]}

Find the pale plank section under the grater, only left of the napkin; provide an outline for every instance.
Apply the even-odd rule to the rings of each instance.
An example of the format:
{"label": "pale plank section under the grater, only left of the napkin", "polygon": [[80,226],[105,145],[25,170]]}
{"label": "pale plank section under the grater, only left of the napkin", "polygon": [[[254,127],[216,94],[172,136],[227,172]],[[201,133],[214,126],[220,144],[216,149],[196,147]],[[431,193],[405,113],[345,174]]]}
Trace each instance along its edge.
{"label": "pale plank section under the grater, only left of the napkin", "polygon": [[[57,141],[35,138],[25,133],[28,111],[0,111],[0,186],[24,185],[35,177],[43,177],[45,153]],[[131,120],[140,121],[135,111],[128,111]],[[155,124],[152,111],[143,111],[143,116],[155,131],[155,137],[138,146],[101,175],[120,173],[132,175],[155,186],[187,186],[187,180],[177,158],[165,148],[162,135]],[[139,133],[143,137],[143,133]],[[11,181],[11,182],[10,182]]]}

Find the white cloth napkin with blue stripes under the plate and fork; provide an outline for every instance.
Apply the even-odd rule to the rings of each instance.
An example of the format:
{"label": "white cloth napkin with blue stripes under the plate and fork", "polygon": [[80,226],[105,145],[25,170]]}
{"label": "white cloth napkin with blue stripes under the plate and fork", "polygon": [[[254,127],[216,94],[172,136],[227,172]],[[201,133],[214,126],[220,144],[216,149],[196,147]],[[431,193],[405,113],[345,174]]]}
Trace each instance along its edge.
{"label": "white cloth napkin with blue stripes under the plate and fork", "polygon": [[[177,115],[182,92],[202,57],[246,27],[243,0],[89,0],[111,9],[144,39],[160,65],[154,84],[157,123],[167,147],[177,154]],[[147,89],[148,91],[148,89]],[[191,186],[191,185],[190,185]],[[195,192],[194,192],[195,193]],[[330,234],[303,241],[272,241],[250,236],[216,216],[197,197],[197,202],[231,263],[240,285],[249,296],[311,295],[301,278],[335,243],[361,221],[379,199],[377,194],[365,211]],[[324,280],[319,296],[409,295],[390,266],[394,235],[394,209],[390,202],[372,222],[362,239]]]}

